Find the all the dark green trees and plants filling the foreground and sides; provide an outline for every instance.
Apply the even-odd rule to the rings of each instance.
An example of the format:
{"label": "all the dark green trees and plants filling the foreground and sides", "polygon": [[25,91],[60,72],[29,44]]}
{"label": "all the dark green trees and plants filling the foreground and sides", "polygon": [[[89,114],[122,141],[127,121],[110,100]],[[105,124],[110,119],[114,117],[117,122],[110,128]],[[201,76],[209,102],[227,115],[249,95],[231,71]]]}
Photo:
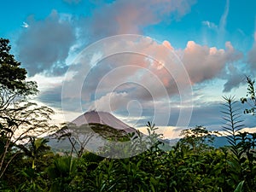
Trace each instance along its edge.
{"label": "all the dark green trees and plants filling the foreground and sides", "polygon": [[[76,150],[73,142],[80,142],[80,148],[75,156],[53,153],[47,140],[39,137],[55,131],[48,124],[53,112],[28,102],[37,93],[36,83],[26,82],[26,70],[9,54],[8,44],[0,38],[0,77],[4,77],[0,78],[0,191],[256,191],[256,133],[240,132],[243,125],[234,97],[224,97],[222,109],[223,129],[229,133],[227,147],[213,148],[213,133],[195,126],[184,130],[183,138],[164,151],[161,140],[156,140],[160,135],[148,123],[149,140],[139,144],[154,145],[130,158],[91,154],[83,148],[87,140],[73,140],[73,132],[63,130],[59,133],[70,139],[72,150]],[[249,104],[245,113],[254,113],[254,82],[248,78],[247,83],[247,98],[241,102]],[[102,134],[98,125],[94,129]],[[128,137],[123,132],[108,134],[113,140]]]}

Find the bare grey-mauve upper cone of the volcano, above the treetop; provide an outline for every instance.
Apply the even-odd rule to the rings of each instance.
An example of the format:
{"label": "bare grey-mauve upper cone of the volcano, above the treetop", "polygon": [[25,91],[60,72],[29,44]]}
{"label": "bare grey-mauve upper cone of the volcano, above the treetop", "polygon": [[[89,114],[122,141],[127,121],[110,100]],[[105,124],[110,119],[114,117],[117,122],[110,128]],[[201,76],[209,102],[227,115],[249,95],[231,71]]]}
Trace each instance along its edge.
{"label": "bare grey-mauve upper cone of the volcano, above the treetop", "polygon": [[113,114],[102,111],[86,112],[80,115],[78,118],[74,119],[72,123],[77,126],[90,124],[108,125],[113,129],[125,131],[126,133],[136,131],[131,126],[126,125],[124,122],[114,117]]}

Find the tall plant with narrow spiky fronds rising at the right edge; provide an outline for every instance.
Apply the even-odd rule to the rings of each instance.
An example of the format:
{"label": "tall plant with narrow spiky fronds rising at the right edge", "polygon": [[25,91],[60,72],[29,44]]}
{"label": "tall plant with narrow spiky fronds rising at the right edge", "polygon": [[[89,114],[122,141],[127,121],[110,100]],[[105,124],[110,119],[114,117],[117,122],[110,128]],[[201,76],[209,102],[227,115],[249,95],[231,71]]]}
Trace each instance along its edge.
{"label": "tall plant with narrow spiky fronds rising at the right edge", "polygon": [[[247,132],[241,132],[243,127],[239,108],[236,106],[236,100],[232,97],[224,97],[225,125],[224,131],[228,133],[227,139],[230,143],[230,150],[235,158],[228,161],[230,165],[230,174],[237,184],[235,191],[255,191],[255,166],[253,165],[254,137]],[[247,113],[248,111],[245,111]],[[251,111],[254,113],[254,109]],[[252,136],[252,137],[250,137]]]}

